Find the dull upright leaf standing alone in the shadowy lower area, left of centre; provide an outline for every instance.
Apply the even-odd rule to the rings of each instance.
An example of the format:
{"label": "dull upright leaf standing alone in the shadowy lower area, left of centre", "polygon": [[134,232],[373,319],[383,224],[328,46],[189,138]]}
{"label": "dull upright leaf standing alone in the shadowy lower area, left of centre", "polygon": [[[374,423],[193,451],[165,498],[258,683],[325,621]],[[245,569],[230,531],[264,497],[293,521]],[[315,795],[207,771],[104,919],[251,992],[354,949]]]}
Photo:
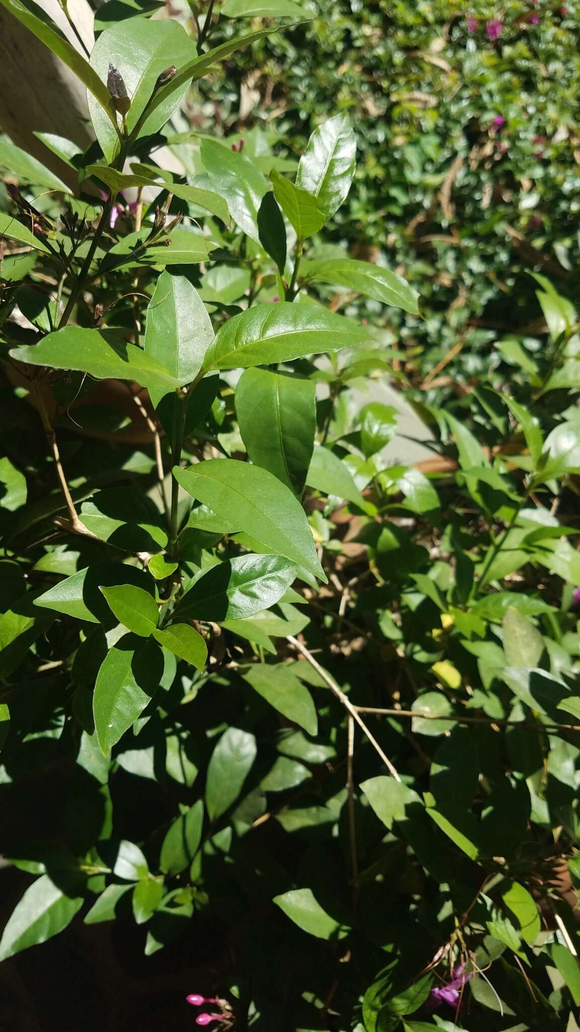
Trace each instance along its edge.
{"label": "dull upright leaf standing alone in the shadowy lower area, left of centre", "polygon": [[235,802],[257,754],[256,739],[241,728],[228,728],[220,738],[207,765],[205,805],[210,820],[216,820]]}

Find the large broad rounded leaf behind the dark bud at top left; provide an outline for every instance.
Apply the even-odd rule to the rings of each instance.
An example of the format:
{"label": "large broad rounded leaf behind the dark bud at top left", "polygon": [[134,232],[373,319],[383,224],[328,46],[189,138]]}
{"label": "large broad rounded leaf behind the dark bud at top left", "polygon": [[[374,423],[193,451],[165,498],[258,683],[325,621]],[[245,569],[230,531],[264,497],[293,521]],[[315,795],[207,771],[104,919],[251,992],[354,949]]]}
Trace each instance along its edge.
{"label": "large broad rounded leaf behind the dark bud at top left", "polygon": [[[103,83],[106,83],[109,64],[121,73],[131,98],[127,112],[127,129],[131,133],[152,97],[161,72],[171,64],[182,71],[191,64],[195,54],[193,39],[179,22],[173,19],[150,22],[146,18],[136,18],[101,32],[91,53],[91,67]],[[158,104],[153,109],[153,105],[149,108],[138,136],[150,136],[161,129],[176,111],[186,91],[187,80],[181,89],[174,89],[164,101],[159,102],[162,91],[158,90]],[[96,137],[106,161],[110,163],[118,147],[117,131],[102,107],[91,96],[88,100]],[[110,100],[108,110],[111,110]],[[121,117],[115,115],[115,118],[121,127]]]}

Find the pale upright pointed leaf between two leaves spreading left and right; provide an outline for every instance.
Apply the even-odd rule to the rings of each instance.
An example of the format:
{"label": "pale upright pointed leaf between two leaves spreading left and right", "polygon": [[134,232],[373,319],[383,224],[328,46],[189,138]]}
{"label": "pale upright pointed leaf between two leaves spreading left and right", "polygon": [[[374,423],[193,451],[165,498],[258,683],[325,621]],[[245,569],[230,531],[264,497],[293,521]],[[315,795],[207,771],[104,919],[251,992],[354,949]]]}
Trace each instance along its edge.
{"label": "pale upright pointed leaf between two leaves spreading left and right", "polygon": [[148,307],[144,350],[181,387],[195,380],[214,340],[205,305],[185,276],[162,272]]}

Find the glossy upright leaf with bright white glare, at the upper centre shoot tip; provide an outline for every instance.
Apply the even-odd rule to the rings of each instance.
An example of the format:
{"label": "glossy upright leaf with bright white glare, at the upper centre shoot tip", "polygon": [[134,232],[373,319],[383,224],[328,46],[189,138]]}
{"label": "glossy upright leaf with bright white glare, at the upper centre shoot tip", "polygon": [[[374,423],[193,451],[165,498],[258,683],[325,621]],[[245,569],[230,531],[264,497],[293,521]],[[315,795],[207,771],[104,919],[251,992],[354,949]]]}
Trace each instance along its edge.
{"label": "glossy upright leaf with bright white glare, at the upper centre shoot tip", "polygon": [[335,115],[313,132],[300,158],[296,186],[317,198],[330,217],[351,188],[356,167],[356,139],[346,111]]}

